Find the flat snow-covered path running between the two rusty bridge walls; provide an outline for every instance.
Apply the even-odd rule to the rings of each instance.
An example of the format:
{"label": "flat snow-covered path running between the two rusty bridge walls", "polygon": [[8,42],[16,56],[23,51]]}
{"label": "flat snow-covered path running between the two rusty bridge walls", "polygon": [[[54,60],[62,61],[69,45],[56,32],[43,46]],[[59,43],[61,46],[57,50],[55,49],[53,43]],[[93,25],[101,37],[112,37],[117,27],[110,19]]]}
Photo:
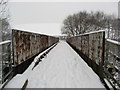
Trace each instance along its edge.
{"label": "flat snow-covered path running between the two rusty bridge walls", "polygon": [[5,88],[104,88],[99,77],[64,41],[60,41],[33,70],[34,62]]}

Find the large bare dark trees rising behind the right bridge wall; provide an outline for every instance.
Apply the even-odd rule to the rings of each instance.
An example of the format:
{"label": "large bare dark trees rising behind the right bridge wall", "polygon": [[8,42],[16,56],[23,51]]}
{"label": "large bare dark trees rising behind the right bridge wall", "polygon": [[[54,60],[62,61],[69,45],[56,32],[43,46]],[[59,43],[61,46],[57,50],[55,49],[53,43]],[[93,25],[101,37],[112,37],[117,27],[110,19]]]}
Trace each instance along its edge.
{"label": "large bare dark trees rising behind the right bridge wall", "polygon": [[[107,37],[118,39],[118,19],[114,15],[107,15],[104,12],[86,12],[69,15],[61,28],[62,34],[76,36],[86,32],[106,30]],[[116,36],[117,35],[117,36]]]}

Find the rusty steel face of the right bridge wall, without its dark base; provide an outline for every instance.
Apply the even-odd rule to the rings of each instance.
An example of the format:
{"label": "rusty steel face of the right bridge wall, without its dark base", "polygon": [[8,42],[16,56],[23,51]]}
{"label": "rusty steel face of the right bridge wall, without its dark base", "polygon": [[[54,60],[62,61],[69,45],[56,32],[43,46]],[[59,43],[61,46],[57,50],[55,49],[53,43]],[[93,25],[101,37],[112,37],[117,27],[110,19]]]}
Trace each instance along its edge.
{"label": "rusty steel face of the right bridge wall, without its dark base", "polygon": [[71,45],[80,50],[85,56],[89,57],[97,65],[104,62],[104,31],[90,34],[83,34],[67,39]]}

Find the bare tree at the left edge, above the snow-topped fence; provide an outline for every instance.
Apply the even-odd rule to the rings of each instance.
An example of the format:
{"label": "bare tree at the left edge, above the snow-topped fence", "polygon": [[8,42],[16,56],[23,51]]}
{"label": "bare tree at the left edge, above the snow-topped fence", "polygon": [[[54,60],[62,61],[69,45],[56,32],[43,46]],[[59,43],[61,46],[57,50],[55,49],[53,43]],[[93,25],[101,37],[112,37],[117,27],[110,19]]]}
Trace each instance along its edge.
{"label": "bare tree at the left edge, above the snow-topped fence", "polygon": [[8,0],[0,0],[0,32],[2,34],[2,41],[10,39],[9,19]]}

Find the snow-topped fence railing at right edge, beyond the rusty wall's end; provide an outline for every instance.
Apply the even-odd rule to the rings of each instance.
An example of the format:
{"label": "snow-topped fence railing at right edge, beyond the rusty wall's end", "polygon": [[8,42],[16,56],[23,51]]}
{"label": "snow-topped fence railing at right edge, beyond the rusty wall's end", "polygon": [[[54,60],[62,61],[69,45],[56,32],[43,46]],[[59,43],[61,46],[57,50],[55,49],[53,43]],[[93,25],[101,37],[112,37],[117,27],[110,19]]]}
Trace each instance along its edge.
{"label": "snow-topped fence railing at right edge, beyond the rusty wall's end", "polygon": [[105,41],[105,77],[114,88],[120,89],[120,42]]}

